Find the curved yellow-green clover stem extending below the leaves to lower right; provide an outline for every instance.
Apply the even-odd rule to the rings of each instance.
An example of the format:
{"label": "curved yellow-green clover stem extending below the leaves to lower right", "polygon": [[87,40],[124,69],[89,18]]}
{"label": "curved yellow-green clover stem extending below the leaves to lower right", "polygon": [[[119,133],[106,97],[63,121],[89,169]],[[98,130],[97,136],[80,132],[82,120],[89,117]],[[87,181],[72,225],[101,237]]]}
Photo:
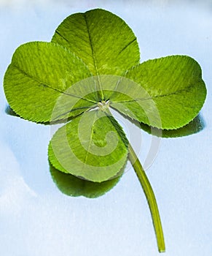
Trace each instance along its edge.
{"label": "curved yellow-green clover stem extending below the leaves to lower right", "polygon": [[133,165],[134,170],[136,171],[136,175],[138,176],[138,180],[141,183],[141,187],[144,190],[144,194],[146,196],[146,200],[149,204],[149,209],[152,214],[152,222],[154,225],[154,231],[157,238],[157,247],[159,252],[165,252],[165,241],[162,232],[162,225],[160,221],[160,214],[157,207],[156,198],[154,196],[154,192],[152,190],[152,186],[149,183],[149,180],[146,176],[144,168],[141,165],[141,162],[138,160],[135,151],[129,143],[128,146],[128,157],[130,159],[131,164]]}

